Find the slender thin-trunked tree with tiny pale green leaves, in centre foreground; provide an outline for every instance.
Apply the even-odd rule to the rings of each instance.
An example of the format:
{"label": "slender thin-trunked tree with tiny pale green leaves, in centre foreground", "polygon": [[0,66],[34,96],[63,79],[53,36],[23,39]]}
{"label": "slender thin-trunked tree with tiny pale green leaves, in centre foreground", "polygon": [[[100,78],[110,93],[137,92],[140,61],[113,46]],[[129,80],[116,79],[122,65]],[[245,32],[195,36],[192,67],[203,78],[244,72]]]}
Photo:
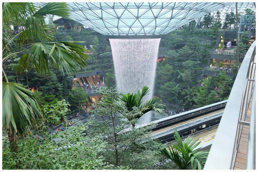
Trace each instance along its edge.
{"label": "slender thin-trunked tree with tiny pale green leaves, in centre foreground", "polygon": [[[154,155],[155,150],[143,152],[136,149],[135,144],[142,144],[142,142],[149,141],[150,132],[148,131],[154,126],[131,127],[131,122],[125,119],[133,119],[142,112],[137,107],[133,107],[131,111],[128,111],[126,103],[120,101],[120,97],[124,95],[124,92],[117,92],[116,90],[118,90],[118,87],[101,87],[98,90],[98,93],[103,95],[103,98],[97,105],[93,105],[95,110],[90,112],[94,116],[101,117],[103,120],[97,120],[95,117],[90,118],[89,124],[92,127],[89,128],[87,134],[89,137],[100,135],[105,139],[108,146],[104,151],[99,153],[99,155],[105,157],[105,161],[115,166],[122,165],[136,169],[147,168],[144,165],[148,159],[147,157]],[[134,123],[139,123],[139,120],[134,119]],[[153,145],[152,147],[155,148],[157,146]],[[139,154],[139,157],[136,156],[137,154]],[[156,160],[156,157],[148,159],[148,161],[151,161],[150,163]],[[132,162],[141,164],[140,166],[143,167],[136,167]]]}

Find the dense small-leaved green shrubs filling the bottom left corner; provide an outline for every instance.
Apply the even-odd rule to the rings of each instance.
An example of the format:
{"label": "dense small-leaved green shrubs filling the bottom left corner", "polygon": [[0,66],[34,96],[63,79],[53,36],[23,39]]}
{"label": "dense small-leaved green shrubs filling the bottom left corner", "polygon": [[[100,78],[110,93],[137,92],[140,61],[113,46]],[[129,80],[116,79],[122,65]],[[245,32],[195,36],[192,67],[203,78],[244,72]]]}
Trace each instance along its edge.
{"label": "dense small-leaved green shrubs filling the bottom left corner", "polygon": [[30,133],[19,140],[17,152],[12,152],[8,142],[3,142],[3,169],[110,169],[112,165],[103,162],[103,156],[98,155],[106,142],[97,135],[85,136],[83,132],[87,128],[71,126],[44,139],[34,138],[36,133]]}

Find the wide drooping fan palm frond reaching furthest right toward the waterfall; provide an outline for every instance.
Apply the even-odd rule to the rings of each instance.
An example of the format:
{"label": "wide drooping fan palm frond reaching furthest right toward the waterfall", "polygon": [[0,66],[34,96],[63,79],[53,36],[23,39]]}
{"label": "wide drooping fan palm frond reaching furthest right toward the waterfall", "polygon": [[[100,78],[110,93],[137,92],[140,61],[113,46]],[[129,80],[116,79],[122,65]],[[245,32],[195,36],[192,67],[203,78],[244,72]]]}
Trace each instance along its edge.
{"label": "wide drooping fan palm frond reaching furthest right toward the waterfall", "polygon": [[88,50],[74,43],[74,41],[35,43],[30,53],[21,58],[18,67],[20,71],[24,71],[34,65],[39,74],[46,74],[49,73],[48,60],[50,60],[50,64],[57,67],[63,74],[64,71],[69,74],[74,73],[79,68],[87,67],[86,61],[89,59],[86,54]]}

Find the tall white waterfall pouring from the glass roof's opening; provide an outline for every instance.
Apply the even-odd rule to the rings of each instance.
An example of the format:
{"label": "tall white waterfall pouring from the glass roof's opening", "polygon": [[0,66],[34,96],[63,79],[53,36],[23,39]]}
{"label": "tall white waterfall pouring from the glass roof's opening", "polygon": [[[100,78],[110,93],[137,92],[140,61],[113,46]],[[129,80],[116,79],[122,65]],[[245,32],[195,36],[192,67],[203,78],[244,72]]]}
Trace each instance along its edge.
{"label": "tall white waterfall pouring from the glass roof's opening", "polygon": [[[136,93],[138,89],[147,85],[150,92],[144,97],[144,100],[151,99],[160,38],[109,40],[115,66],[116,83],[120,87],[120,91],[129,90],[127,92]],[[142,117],[142,123],[150,121],[150,114],[145,114]]]}

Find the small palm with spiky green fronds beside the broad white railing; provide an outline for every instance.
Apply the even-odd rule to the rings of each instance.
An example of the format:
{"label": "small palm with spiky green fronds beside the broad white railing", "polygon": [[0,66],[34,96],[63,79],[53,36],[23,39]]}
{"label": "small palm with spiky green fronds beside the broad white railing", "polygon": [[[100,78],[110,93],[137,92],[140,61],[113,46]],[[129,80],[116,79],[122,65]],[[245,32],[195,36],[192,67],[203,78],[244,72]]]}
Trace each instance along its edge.
{"label": "small palm with spiky green fronds beside the broad white railing", "polygon": [[194,148],[200,144],[200,142],[197,142],[199,139],[192,141],[193,136],[188,136],[182,142],[176,128],[174,128],[174,137],[175,142],[170,145],[171,148],[163,148],[159,154],[171,159],[171,161],[173,161],[180,170],[203,169],[209,152],[198,152],[201,148],[194,150]]}

